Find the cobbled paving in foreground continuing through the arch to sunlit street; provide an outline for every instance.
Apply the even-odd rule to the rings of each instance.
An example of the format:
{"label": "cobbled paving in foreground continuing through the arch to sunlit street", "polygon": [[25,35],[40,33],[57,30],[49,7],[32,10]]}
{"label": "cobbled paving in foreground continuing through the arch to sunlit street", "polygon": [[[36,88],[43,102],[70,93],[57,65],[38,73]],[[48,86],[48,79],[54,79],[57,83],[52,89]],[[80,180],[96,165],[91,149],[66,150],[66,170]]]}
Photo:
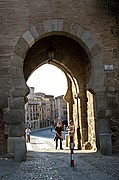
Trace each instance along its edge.
{"label": "cobbled paving in foreground continuing through the arch to sunlit street", "polygon": [[0,180],[119,180],[119,157],[75,150],[71,167],[70,150],[55,150],[53,138],[49,130],[34,132],[26,162],[1,157]]}

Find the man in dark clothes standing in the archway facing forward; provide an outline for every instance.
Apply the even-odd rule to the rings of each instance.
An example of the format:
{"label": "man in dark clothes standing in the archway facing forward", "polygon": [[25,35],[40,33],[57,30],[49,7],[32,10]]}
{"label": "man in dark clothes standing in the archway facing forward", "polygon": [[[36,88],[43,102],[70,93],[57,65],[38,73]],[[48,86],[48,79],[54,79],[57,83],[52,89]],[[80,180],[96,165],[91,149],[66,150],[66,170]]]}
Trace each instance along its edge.
{"label": "man in dark clothes standing in the archway facing forward", "polygon": [[55,137],[55,139],[56,139],[56,149],[58,147],[58,139],[60,140],[60,149],[63,149],[62,148],[62,140],[63,140],[62,139],[62,127],[60,125],[60,122],[57,123],[57,126],[55,128],[55,133],[56,133],[56,137]]}

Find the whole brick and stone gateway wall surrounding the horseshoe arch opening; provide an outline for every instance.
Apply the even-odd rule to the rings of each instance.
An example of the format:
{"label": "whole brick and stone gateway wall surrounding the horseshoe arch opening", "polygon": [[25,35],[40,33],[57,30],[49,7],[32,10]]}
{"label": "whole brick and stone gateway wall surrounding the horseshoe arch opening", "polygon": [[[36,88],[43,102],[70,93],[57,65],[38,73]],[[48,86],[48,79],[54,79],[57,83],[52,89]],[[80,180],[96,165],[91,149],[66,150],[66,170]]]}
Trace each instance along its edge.
{"label": "whole brick and stone gateway wall surrounding the horseshoe arch opening", "polygon": [[81,148],[89,142],[102,154],[119,152],[118,5],[103,0],[0,1],[1,154],[26,159],[26,82],[48,63],[50,45],[56,50],[50,63],[67,77],[65,99],[69,119],[80,129]]}

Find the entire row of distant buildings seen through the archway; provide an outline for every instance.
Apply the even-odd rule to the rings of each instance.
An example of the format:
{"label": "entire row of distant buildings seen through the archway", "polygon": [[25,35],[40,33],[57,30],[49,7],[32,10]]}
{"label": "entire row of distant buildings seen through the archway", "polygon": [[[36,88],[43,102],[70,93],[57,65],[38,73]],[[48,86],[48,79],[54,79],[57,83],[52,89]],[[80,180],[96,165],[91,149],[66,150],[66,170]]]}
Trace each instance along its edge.
{"label": "entire row of distant buildings seen through the archway", "polygon": [[67,125],[67,102],[62,96],[54,98],[45,93],[34,93],[30,87],[25,104],[25,127],[32,130],[54,126],[60,119],[62,125]]}

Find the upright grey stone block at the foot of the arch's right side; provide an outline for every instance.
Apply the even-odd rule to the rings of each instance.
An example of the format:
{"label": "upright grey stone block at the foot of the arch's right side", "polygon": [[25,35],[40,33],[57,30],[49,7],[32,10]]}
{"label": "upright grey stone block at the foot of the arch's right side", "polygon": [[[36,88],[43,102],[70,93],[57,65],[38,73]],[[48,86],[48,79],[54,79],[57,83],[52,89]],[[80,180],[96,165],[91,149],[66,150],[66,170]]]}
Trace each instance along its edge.
{"label": "upright grey stone block at the foot of the arch's right side", "polygon": [[112,155],[112,139],[111,134],[102,133],[100,134],[100,151],[102,155]]}

